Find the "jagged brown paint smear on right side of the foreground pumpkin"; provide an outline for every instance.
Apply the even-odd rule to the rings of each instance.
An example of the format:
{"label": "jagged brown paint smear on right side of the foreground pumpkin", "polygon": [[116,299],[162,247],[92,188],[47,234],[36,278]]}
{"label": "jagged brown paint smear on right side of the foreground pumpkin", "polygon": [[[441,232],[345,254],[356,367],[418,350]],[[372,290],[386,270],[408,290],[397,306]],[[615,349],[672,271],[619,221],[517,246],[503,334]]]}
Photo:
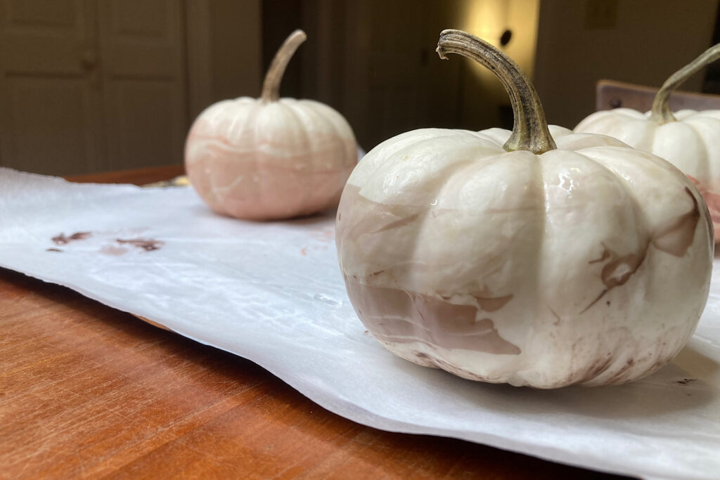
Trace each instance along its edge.
{"label": "jagged brown paint smear on right side of the foreground pumpkin", "polygon": [[650,245],[676,257],[683,257],[688,252],[688,248],[693,245],[693,240],[695,240],[695,230],[700,220],[700,209],[697,199],[688,187],[685,187],[685,193],[693,201],[693,207],[690,211],[670,219],[665,225],[660,226],[656,232],[650,235],[647,244],[638,252],[620,256],[603,243],[603,254],[600,258],[588,263],[592,264],[610,259],[600,272],[600,278],[605,289],[600,292],[598,298],[590,302],[588,307],[585,307],[580,313],[584,313],[590,307],[593,307],[608,291],[611,291],[616,286],[624,285],[642,265]]}

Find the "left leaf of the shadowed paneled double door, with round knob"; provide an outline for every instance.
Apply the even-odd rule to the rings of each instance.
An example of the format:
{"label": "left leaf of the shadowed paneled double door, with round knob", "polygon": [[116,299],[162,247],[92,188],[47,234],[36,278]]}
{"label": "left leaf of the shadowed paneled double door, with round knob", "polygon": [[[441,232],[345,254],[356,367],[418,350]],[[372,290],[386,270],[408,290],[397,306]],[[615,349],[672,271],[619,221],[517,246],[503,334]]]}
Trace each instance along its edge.
{"label": "left leaf of the shadowed paneled double door, with round knob", "polygon": [[103,168],[91,0],[0,1],[0,165]]}

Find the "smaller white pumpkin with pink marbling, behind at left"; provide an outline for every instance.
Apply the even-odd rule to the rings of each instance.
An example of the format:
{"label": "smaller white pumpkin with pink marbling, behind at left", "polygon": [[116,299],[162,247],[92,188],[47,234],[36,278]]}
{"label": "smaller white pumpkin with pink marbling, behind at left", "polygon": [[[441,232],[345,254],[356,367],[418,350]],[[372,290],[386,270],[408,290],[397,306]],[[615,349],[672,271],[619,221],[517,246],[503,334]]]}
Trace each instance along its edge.
{"label": "smaller white pumpkin with pink marbling, behind at left", "polygon": [[353,131],[336,110],[279,99],[282,75],[305,41],[296,30],[265,77],[261,98],[213,104],[186,141],[190,183],[212,209],[243,219],[284,219],[336,207],[357,163]]}

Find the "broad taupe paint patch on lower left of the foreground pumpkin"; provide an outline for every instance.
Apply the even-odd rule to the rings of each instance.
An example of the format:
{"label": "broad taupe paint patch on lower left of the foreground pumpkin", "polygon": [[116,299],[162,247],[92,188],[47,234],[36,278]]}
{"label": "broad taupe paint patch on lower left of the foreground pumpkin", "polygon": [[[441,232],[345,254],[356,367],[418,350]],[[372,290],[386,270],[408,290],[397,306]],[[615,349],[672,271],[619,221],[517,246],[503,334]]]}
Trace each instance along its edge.
{"label": "broad taupe paint patch on lower left of the foreground pumpkin", "polygon": [[442,348],[518,355],[490,318],[475,320],[478,307],[428,294],[361,284],[346,276],[348,296],[372,334],[382,342],[420,342]]}

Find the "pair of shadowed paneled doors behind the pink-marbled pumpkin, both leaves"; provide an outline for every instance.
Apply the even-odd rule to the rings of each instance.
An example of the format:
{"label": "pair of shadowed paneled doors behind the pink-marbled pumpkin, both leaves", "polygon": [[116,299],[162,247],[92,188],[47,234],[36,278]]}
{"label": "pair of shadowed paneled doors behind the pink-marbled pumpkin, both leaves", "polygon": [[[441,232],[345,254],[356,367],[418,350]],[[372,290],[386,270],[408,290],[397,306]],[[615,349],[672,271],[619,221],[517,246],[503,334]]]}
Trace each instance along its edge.
{"label": "pair of shadowed paneled doors behind the pink-marbled pumpkin, both leaves", "polygon": [[178,0],[0,0],[0,165],[181,163],[182,19]]}

